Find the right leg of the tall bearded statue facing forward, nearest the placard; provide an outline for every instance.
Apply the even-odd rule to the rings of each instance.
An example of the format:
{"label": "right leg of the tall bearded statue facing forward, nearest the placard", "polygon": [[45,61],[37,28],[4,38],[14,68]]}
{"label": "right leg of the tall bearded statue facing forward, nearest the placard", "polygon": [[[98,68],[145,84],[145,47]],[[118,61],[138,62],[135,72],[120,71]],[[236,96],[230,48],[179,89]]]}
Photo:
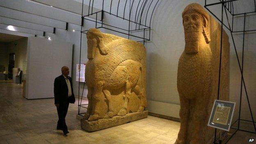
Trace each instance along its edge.
{"label": "right leg of the tall bearded statue facing forward, nearest the placard", "polygon": [[191,140],[189,144],[206,144],[204,142],[206,127],[207,127],[207,110],[208,105],[207,98],[208,95],[198,96],[195,102],[194,114],[192,117],[192,123],[194,128],[191,134]]}

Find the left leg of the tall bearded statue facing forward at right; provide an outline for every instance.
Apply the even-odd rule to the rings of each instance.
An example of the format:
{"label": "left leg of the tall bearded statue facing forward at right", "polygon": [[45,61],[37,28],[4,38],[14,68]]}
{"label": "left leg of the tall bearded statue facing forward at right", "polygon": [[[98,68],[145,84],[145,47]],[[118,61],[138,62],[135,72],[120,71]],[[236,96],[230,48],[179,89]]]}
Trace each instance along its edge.
{"label": "left leg of the tall bearded statue facing forward at right", "polygon": [[189,117],[189,99],[185,98],[180,94],[180,117],[181,117],[181,128],[178,133],[178,138],[176,139],[175,144],[185,144],[187,136],[187,121]]}

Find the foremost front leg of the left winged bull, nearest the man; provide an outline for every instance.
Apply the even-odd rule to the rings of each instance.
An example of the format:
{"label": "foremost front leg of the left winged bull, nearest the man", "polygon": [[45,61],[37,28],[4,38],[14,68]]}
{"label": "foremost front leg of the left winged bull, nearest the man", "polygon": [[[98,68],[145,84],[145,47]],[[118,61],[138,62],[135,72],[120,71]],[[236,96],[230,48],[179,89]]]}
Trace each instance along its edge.
{"label": "foremost front leg of the left winged bull, nearest the man", "polygon": [[102,93],[103,85],[103,81],[98,81],[96,83],[95,94],[92,99],[92,115],[89,117],[88,121],[97,121],[99,119],[99,111],[101,108],[99,102],[101,101],[101,97],[104,97]]}

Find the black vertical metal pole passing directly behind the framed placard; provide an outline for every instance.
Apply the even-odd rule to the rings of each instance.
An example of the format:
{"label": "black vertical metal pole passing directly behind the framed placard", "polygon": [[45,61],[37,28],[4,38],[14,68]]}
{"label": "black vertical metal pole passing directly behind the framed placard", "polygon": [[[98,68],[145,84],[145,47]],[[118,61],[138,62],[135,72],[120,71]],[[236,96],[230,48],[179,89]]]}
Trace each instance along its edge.
{"label": "black vertical metal pole passing directly behind the framed placard", "polygon": [[[222,23],[221,23],[221,36],[220,36],[219,79],[218,79],[218,95],[217,95],[218,100],[219,100],[219,86],[220,86],[220,74],[221,74],[221,62],[222,62],[223,7],[224,7],[224,2],[222,0]],[[214,142],[216,142],[216,134],[217,134],[217,129],[215,128]]]}

